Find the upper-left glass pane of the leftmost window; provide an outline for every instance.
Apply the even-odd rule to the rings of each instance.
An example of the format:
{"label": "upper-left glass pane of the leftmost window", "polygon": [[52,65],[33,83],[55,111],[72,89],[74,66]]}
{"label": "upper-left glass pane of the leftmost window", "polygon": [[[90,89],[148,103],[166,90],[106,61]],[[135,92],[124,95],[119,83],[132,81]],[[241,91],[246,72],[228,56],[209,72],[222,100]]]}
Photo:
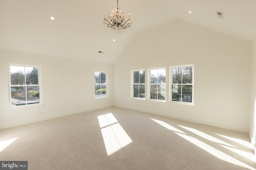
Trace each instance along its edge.
{"label": "upper-left glass pane of the leftmost window", "polygon": [[10,66],[11,85],[25,84],[25,67]]}

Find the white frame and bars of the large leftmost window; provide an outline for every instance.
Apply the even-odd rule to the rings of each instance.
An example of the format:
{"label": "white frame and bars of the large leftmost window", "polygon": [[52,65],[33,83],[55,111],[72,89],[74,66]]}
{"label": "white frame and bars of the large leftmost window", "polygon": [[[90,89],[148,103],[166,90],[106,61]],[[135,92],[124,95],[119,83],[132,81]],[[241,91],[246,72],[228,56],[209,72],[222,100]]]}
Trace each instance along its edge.
{"label": "white frame and bars of the large leftmost window", "polygon": [[[21,66],[21,67],[36,67],[38,68],[38,84],[26,84],[26,73],[25,73],[25,84],[18,84],[18,85],[11,85],[11,74],[10,74],[10,66]],[[36,65],[28,65],[28,64],[8,64],[8,74],[9,74],[9,108],[20,108],[20,107],[31,107],[31,106],[39,106],[43,104],[43,95],[42,95],[42,76],[41,76],[41,66]],[[36,104],[27,104],[26,105],[20,105],[20,106],[12,106],[12,92],[11,87],[31,87],[31,86],[39,86],[39,103]],[[27,94],[27,92],[26,92]],[[26,101],[27,101],[27,95],[26,95]]]}

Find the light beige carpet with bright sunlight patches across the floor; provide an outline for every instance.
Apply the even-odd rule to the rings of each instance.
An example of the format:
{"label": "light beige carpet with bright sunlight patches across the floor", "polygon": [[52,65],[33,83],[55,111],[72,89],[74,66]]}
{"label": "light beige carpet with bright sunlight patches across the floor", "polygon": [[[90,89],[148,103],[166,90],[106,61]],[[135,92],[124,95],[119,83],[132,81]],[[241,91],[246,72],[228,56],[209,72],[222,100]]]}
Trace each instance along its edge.
{"label": "light beige carpet with bright sunlight patches across the floor", "polygon": [[0,130],[0,160],[29,170],[256,168],[247,133],[110,107]]}

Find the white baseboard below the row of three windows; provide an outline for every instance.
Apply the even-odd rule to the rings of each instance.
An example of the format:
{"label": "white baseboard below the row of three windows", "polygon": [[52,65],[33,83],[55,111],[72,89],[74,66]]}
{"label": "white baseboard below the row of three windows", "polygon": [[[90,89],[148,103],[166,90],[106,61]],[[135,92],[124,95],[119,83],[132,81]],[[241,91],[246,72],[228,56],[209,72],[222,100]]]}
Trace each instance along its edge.
{"label": "white baseboard below the row of three windows", "polygon": [[164,116],[164,117],[170,117],[170,118],[174,118],[174,119],[180,119],[180,120],[184,120],[184,121],[190,121],[190,122],[194,122],[194,123],[200,123],[203,125],[209,125],[209,126],[220,127],[220,128],[224,128],[224,129],[230,129],[230,130],[234,130],[234,131],[249,133],[249,129],[246,127],[240,127],[240,126],[236,126],[236,125],[229,125],[229,124],[213,122],[213,121],[206,121],[206,120],[196,119],[196,118],[192,118],[192,117],[184,117],[184,116],[180,116],[180,115],[174,115],[172,113],[158,112],[158,111],[153,111],[153,110],[148,110],[148,109],[141,109],[138,107],[129,107],[129,106],[123,106],[123,105],[118,105],[118,104],[114,104],[114,106],[124,108],[124,109],[135,110],[135,111],[142,111],[145,113],[160,115],[160,116]]}

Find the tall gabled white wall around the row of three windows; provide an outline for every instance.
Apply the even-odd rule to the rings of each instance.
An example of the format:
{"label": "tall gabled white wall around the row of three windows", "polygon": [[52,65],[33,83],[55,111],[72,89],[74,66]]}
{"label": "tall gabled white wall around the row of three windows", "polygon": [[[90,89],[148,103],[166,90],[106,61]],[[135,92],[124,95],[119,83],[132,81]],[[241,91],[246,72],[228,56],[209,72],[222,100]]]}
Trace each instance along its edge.
{"label": "tall gabled white wall around the row of three windows", "polygon": [[[140,33],[114,63],[114,106],[249,131],[252,42],[183,21]],[[194,64],[194,106],[130,98],[130,71]]]}

